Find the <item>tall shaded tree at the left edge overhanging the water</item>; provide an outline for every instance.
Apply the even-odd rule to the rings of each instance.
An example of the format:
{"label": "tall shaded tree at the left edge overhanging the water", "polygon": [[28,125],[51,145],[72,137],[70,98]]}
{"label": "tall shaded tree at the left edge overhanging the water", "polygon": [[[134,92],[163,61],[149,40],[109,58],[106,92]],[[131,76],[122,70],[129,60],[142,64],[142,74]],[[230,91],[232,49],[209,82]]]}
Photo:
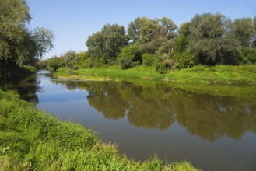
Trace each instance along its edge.
{"label": "tall shaded tree at the left edge overhanging the water", "polygon": [[0,78],[8,79],[24,65],[37,64],[53,48],[53,33],[29,30],[30,9],[25,0],[0,1]]}

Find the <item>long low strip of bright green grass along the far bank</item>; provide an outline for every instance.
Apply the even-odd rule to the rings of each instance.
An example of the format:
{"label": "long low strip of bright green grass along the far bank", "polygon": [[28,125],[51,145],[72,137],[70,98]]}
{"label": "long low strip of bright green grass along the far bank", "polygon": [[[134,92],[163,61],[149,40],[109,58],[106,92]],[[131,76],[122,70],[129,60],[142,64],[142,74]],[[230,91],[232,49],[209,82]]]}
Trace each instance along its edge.
{"label": "long low strip of bright green grass along the far bank", "polygon": [[149,79],[149,80],[165,80],[170,82],[181,83],[233,83],[233,84],[256,84],[256,65],[216,65],[195,66],[193,68],[185,68],[175,70],[168,74],[160,74],[155,72],[153,68],[139,66],[127,70],[121,70],[118,67],[112,68],[92,68],[68,70],[60,68],[54,74],[55,77],[65,79]]}

